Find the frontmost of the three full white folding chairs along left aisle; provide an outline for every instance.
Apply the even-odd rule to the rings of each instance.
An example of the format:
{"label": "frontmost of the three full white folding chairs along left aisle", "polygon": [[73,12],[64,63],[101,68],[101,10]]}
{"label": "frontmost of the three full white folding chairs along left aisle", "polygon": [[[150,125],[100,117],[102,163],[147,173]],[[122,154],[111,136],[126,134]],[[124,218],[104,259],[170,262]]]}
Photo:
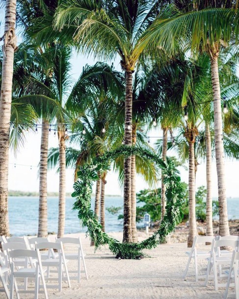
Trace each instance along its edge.
{"label": "frontmost of the three full white folding chairs along left aisle", "polygon": [[[10,299],[13,299],[14,289],[17,294],[33,293],[35,294],[34,298],[38,299],[40,279],[42,280],[43,293],[45,294],[45,298],[48,299],[46,282],[44,278],[44,272],[42,269],[39,250],[34,251],[29,249],[15,249],[15,250],[8,250],[7,253],[8,253],[10,267],[11,267]],[[14,263],[15,259],[24,259],[25,260],[24,268],[19,269],[18,267],[16,267]],[[35,268],[29,266],[30,259],[34,259],[36,261]],[[24,290],[20,290],[17,287],[17,284],[14,284],[14,281],[16,281],[16,279],[18,278],[25,278],[25,279],[33,278],[35,280],[35,290],[34,291],[27,290],[27,288],[25,288]]]}

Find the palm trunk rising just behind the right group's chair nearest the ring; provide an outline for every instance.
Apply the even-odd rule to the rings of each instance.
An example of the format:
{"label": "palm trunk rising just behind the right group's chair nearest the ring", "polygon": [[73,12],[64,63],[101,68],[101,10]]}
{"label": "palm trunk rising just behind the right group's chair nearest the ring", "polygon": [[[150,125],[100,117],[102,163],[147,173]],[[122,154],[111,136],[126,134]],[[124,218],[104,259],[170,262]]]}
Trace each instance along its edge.
{"label": "palm trunk rising just behind the right group's chair nearest the ring", "polygon": [[196,213],[195,213],[195,162],[194,162],[194,143],[188,143],[189,155],[189,175],[188,175],[188,190],[189,190],[189,224],[188,224],[188,239],[187,247],[192,247],[193,240],[196,236]]}

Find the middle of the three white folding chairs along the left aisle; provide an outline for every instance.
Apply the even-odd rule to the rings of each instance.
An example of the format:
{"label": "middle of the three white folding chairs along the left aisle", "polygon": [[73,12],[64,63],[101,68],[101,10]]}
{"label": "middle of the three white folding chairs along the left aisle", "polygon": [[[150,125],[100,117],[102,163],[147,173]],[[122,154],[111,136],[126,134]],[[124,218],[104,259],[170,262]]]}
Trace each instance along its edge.
{"label": "middle of the three white folding chairs along the left aisle", "polygon": [[[48,267],[47,281],[57,280],[59,292],[62,290],[62,280],[67,280],[69,288],[71,287],[69,273],[66,265],[66,259],[64,255],[62,243],[45,242],[36,244],[36,249],[48,249],[48,258],[42,260],[42,266]],[[52,257],[52,250],[57,250],[58,257]],[[58,268],[58,277],[50,277],[50,267]],[[53,272],[53,271],[52,271]],[[66,277],[64,276],[66,274]],[[47,285],[47,288],[55,288],[55,285]]]}

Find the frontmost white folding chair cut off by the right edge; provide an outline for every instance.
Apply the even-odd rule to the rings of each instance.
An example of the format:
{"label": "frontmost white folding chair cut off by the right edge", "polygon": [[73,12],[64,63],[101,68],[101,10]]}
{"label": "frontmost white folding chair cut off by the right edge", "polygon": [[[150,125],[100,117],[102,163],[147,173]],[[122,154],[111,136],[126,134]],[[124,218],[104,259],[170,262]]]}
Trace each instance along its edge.
{"label": "frontmost white folding chair cut off by the right edge", "polygon": [[226,291],[223,297],[224,299],[227,299],[228,297],[229,287],[233,279],[235,282],[236,299],[239,299],[239,251],[236,250],[233,251],[232,262],[228,272]]}

